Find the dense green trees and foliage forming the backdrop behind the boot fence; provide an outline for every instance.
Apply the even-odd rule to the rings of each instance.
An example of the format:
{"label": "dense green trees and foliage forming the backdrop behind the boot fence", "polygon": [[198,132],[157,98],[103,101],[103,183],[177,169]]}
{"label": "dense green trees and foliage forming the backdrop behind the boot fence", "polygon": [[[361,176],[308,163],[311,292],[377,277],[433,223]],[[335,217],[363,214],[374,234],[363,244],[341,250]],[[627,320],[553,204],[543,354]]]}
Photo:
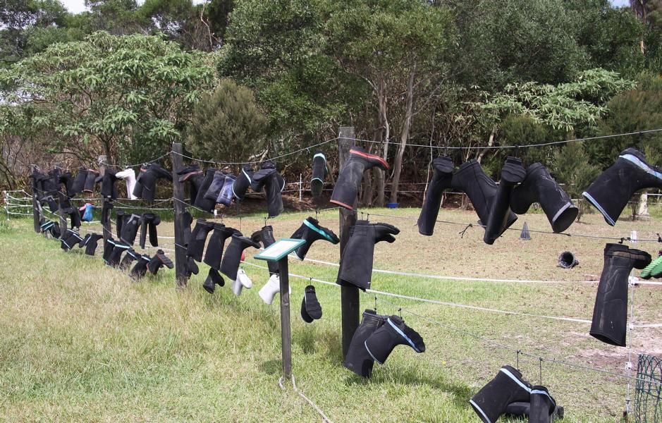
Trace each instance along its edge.
{"label": "dense green trees and foliage forming the backdrop behind the boot fence", "polygon": [[[379,205],[387,195],[398,201],[400,180],[427,178],[425,166],[407,165],[428,163],[431,152],[408,144],[524,146],[662,125],[661,0],[630,8],[608,0],[88,0],[87,7],[71,15],[58,0],[8,0],[0,9],[6,180],[25,172],[14,153],[39,161],[35,152],[80,159],[105,152],[135,162],[185,140],[206,158],[243,161],[353,125],[358,138],[374,141],[364,147],[393,164],[364,178],[361,202]],[[145,35],[153,37],[141,41]],[[94,45],[102,39],[121,53]],[[639,140],[584,149],[603,168],[627,145]],[[644,135],[642,145],[659,146],[658,137]],[[519,154],[551,163],[560,148]],[[455,159],[479,159],[497,176],[504,154],[462,149]],[[308,159],[293,157],[288,168],[305,171]]]}

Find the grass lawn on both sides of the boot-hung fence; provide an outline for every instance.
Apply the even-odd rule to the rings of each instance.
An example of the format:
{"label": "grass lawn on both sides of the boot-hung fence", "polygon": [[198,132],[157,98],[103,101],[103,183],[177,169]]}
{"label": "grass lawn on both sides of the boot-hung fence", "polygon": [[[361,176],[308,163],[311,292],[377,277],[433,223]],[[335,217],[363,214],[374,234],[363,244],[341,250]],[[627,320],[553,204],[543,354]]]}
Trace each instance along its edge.
{"label": "grass lawn on both sides of the boot-hung fence", "polygon": [[[657,213],[657,211],[655,211]],[[374,274],[375,290],[443,302],[514,310],[546,316],[591,319],[606,240],[532,233],[520,241],[507,231],[494,245],[482,242],[482,228],[438,223],[433,236],[417,233],[417,209],[370,211],[371,221],[400,228],[396,243],[375,249],[375,269],[467,278],[517,278],[565,283],[443,280]],[[391,214],[409,218],[376,216]],[[659,216],[659,214],[654,214]],[[276,238],[293,233],[305,214],[269,221]],[[337,233],[338,212],[320,214],[321,224]],[[439,219],[475,222],[473,212],[446,211]],[[550,231],[544,214],[520,216],[532,230]],[[226,219],[250,235],[264,221]],[[98,226],[96,227],[99,228]],[[639,238],[657,238],[659,218],[619,221],[608,226],[591,214],[570,233],[622,237],[637,229]],[[172,235],[171,223],[159,235]],[[173,249],[173,240],[161,244]],[[661,245],[639,243],[655,255]],[[575,252],[580,266],[556,266],[563,250]],[[278,303],[265,305],[257,290],[265,270],[245,266],[252,290],[233,295],[229,283],[214,295],[202,289],[207,267],[200,266],[188,288],[178,291],[174,271],[159,271],[133,282],[82,250],[63,252],[59,243],[32,231],[32,222],[0,226],[0,419],[9,422],[315,422],[320,421],[290,385],[278,386],[280,320]],[[148,251],[149,252],[149,251]],[[247,262],[264,264],[252,259]],[[170,253],[173,257],[173,253]],[[315,244],[307,256],[338,262],[338,248]],[[290,272],[333,281],[337,267],[290,260]],[[570,283],[568,283],[570,282]],[[491,339],[542,357],[553,357],[624,374],[627,348],[588,335],[589,325],[539,317],[497,314],[401,298],[379,296],[381,314],[402,315],[427,346],[417,354],[398,346],[384,366],[363,380],[342,366],[340,290],[314,283],[324,316],[305,324],[300,301],[309,281],[292,284],[293,372],[298,388],[333,422],[479,422],[468,405],[502,364],[517,360],[513,350]],[[660,323],[662,287],[639,286],[635,322]],[[374,307],[374,295],[361,297]],[[450,326],[453,329],[449,329]],[[662,329],[635,329],[633,361],[640,352],[662,354]],[[614,422],[625,403],[626,379],[587,372],[537,357],[520,355],[520,369],[542,384],[566,410],[564,422]],[[634,386],[632,387],[634,389]],[[632,393],[634,398],[634,393]],[[501,421],[501,420],[500,420]]]}

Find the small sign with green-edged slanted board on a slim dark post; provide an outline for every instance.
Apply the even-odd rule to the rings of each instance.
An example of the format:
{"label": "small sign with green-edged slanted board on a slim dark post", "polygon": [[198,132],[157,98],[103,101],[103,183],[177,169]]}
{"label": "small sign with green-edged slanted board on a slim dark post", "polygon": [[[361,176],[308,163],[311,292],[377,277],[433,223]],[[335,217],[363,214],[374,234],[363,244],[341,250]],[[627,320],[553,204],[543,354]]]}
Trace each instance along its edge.
{"label": "small sign with green-edged slanted board on a slim dark post", "polygon": [[288,274],[288,254],[305,240],[283,238],[255,255],[256,259],[278,262],[278,278],[281,281],[281,354],[283,357],[283,379],[292,377],[292,331],[290,329],[290,278]]}

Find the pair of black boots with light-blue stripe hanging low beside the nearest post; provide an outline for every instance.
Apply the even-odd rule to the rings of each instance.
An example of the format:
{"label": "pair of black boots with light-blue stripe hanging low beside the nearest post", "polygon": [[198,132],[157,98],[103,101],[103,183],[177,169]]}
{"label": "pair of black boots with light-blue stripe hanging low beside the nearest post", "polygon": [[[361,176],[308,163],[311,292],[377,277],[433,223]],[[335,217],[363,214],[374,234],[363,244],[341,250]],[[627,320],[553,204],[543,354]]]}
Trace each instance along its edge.
{"label": "pair of black boots with light-blue stripe hanging low beside the nearest post", "polygon": [[397,345],[410,346],[417,353],[425,351],[423,338],[402,318],[382,316],[366,309],[352,337],[344,365],[359,376],[369,377],[374,362],[384,364]]}

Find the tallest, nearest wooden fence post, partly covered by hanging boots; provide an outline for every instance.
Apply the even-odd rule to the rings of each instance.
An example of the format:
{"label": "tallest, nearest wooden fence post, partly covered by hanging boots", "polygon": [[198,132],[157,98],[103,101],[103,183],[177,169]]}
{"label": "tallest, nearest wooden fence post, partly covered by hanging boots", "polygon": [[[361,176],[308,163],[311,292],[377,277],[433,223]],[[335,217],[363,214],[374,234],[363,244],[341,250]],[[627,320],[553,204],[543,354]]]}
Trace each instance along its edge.
{"label": "tallest, nearest wooden fence post, partly covered by hanging boots", "polygon": [[[349,158],[350,147],[354,145],[354,127],[343,126],[338,131],[338,168],[340,171],[345,166],[345,161]],[[353,204],[356,209],[356,200]],[[356,223],[356,211],[341,207],[338,210],[340,215],[340,239],[341,239],[341,257],[345,245],[350,238],[350,228]],[[359,288],[354,286],[341,286],[341,315],[343,329],[343,358],[347,355],[352,342],[352,337],[357,327],[359,327],[360,317]]]}

